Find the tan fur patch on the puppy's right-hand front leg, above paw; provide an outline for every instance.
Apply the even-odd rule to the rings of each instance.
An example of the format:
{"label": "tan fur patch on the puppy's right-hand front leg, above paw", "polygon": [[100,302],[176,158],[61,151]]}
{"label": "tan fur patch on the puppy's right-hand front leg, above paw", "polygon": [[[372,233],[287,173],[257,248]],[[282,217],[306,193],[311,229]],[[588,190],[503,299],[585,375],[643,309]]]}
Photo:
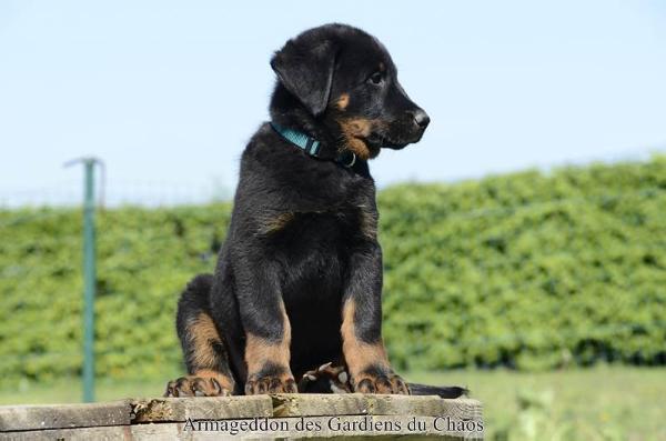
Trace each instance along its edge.
{"label": "tan fur patch on the puppy's right-hand front leg, above paw", "polygon": [[354,382],[361,381],[364,375],[362,372],[372,367],[390,369],[386,350],[382,341],[377,343],[365,343],[356,337],[354,324],[354,314],[356,305],[354,300],[350,299],[342,309],[342,352]]}

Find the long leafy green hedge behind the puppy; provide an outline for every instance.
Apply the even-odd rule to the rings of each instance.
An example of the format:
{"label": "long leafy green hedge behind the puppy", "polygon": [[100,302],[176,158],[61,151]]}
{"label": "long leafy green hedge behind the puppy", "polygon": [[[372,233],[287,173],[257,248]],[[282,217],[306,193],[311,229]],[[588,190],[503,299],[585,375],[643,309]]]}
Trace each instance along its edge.
{"label": "long leafy green hedge behind the puppy", "polygon": [[[384,335],[401,369],[666,362],[666,158],[380,193]],[[178,369],[180,290],[229,204],[98,216],[97,372]],[[81,212],[0,211],[0,384],[81,369]]]}

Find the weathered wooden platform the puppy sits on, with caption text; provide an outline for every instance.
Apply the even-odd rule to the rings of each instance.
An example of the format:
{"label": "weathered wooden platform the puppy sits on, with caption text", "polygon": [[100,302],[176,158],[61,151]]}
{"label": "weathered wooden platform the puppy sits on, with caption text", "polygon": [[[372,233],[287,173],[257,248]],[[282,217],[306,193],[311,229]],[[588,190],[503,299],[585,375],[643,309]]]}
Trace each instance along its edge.
{"label": "weathered wooden platform the puppy sits on, with caption text", "polygon": [[476,400],[371,394],[159,398],[0,407],[0,440],[483,439]]}

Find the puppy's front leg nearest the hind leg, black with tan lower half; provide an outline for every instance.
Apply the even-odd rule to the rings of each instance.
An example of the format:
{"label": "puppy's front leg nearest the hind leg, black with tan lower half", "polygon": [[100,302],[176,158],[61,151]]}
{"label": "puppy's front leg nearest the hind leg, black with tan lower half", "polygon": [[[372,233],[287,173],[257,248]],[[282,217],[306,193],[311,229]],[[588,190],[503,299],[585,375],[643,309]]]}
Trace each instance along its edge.
{"label": "puppy's front leg nearest the hind leg, black with tan lower half", "polygon": [[236,271],[239,307],[245,330],[245,394],[295,393],[290,369],[291,325],[276,268],[244,262]]}

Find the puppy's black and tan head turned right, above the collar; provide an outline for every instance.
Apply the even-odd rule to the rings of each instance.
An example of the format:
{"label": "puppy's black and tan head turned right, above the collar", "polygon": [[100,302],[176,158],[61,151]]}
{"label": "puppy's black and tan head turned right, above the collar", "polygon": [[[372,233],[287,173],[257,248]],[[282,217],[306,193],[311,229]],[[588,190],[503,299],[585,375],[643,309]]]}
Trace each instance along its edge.
{"label": "puppy's black and tan head turned right, above the collar", "polygon": [[397,81],[391,56],[374,37],[326,24],[289,40],[271,60],[280,83],[361,159],[417,142],[430,122]]}

